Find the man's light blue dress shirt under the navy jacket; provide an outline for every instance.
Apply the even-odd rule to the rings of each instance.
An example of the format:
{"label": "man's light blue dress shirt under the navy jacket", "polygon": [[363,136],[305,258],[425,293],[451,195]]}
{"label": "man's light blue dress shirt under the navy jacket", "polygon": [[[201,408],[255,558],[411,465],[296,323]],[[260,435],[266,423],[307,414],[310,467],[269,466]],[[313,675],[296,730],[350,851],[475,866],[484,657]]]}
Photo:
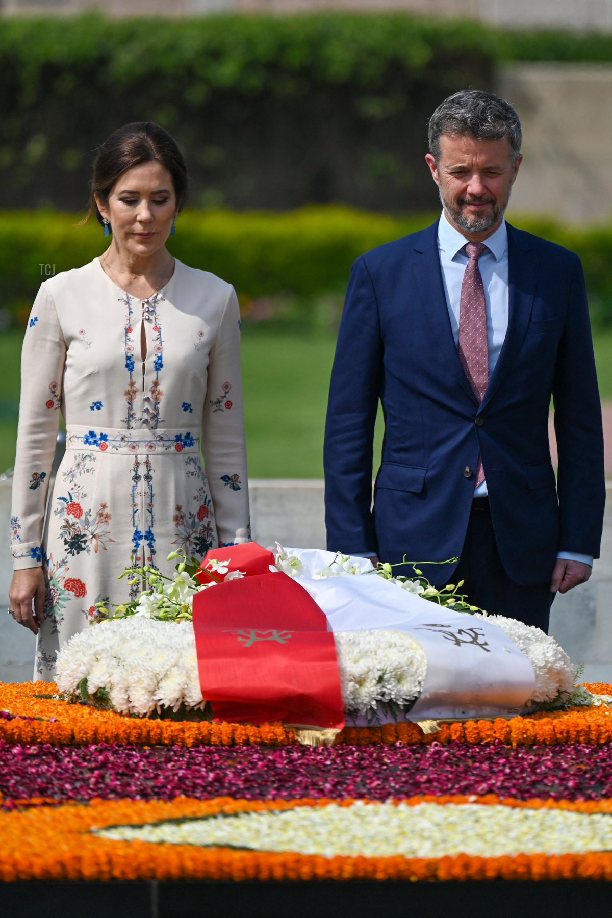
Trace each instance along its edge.
{"label": "man's light blue dress shirt under the navy jacket", "polygon": [[[449,309],[452,334],[455,344],[459,345],[459,313],[462,298],[462,283],[465,267],[470,261],[463,251],[469,242],[462,233],[455,229],[442,211],[438,224],[438,251],[442,268],[442,283]],[[478,267],[483,278],[484,301],[486,304],[486,330],[489,347],[489,379],[495,370],[502,344],[508,327],[508,238],[506,220],[502,219],[495,232],[484,240],[487,252],[478,259]],[[486,469],[484,470],[486,473]],[[486,479],[475,488],[474,498],[484,498],[488,494]],[[559,558],[583,561],[593,565],[593,557],[587,554],[559,552]]]}

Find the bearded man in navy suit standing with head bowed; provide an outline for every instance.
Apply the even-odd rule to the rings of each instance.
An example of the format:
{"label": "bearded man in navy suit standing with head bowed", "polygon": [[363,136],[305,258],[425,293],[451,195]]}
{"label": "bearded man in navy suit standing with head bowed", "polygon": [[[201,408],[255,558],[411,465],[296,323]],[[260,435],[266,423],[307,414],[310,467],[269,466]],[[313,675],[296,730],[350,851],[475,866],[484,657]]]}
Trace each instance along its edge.
{"label": "bearded man in navy suit standing with head bowed", "polygon": [[446,99],[426,157],[440,219],[353,264],[329,393],[326,523],[332,551],[420,562],[432,583],[463,579],[473,604],[547,630],[555,592],[587,580],[598,557],[603,434],[580,260],[504,219],[520,143],[503,99]]}

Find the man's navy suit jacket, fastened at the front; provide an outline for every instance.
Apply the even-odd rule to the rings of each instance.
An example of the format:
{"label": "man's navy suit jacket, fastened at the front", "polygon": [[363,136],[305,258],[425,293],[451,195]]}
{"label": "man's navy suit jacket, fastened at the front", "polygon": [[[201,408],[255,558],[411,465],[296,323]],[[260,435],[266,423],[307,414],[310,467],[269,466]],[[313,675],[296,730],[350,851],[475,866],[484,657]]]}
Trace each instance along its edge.
{"label": "man's navy suit jacket, fastened at the front", "polygon": [[[582,265],[507,226],[508,328],[479,405],[452,336],[437,230],[379,246],[352,266],[326,424],[328,549],[391,562],[458,557],[474,490],[464,470],[475,470],[480,452],[506,573],[543,584],[560,550],[598,557],[603,525],[601,406]],[[384,443],[372,505],[379,399]],[[448,583],[455,566],[424,573]]]}

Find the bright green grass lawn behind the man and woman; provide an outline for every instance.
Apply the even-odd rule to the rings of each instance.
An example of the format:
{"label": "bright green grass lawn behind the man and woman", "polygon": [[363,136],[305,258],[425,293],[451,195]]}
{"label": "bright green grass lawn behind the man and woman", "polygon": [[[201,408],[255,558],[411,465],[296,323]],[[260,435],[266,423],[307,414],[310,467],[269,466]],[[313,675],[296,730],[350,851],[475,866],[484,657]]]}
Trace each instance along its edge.
{"label": "bright green grass lawn behind the man and woman", "polygon": [[[0,471],[13,465],[17,434],[19,349],[23,332],[0,335]],[[258,478],[317,478],[335,335],[323,330],[285,332],[244,327],[244,382],[249,472]],[[595,336],[603,399],[612,399],[612,331]],[[380,426],[380,425],[379,425]],[[375,453],[380,454],[380,430]]]}

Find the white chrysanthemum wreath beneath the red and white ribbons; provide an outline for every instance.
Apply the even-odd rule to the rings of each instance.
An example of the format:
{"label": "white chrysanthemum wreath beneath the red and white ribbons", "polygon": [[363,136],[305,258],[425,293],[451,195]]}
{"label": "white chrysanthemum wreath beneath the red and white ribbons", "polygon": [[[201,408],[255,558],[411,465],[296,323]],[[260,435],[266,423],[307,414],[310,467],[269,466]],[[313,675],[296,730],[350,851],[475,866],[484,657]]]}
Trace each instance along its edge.
{"label": "white chrysanthemum wreath beneath the red and white ribbons", "polygon": [[[536,681],[528,704],[573,691],[570,659],[553,638],[502,616],[490,615],[487,621],[529,657]],[[335,633],[334,638],[345,711],[367,715],[379,704],[402,708],[418,697],[427,659],[409,634],[378,629]],[[114,708],[124,714],[146,715],[161,707],[176,711],[182,704],[189,710],[205,703],[190,621],[131,617],[75,634],[61,648],[58,687],[75,691],[85,678],[90,694],[106,689]]]}

